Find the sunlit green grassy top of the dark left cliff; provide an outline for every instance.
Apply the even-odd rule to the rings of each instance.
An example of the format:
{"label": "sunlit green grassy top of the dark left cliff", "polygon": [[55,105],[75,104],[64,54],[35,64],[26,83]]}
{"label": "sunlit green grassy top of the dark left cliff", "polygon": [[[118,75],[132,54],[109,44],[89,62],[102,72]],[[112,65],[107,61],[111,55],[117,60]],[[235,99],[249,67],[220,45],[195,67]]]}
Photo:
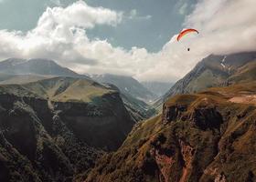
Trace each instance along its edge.
{"label": "sunlit green grassy top of the dark left cliff", "polygon": [[0,90],[16,96],[37,96],[59,102],[91,102],[94,97],[114,92],[91,80],[71,77],[54,77],[23,85],[2,85]]}

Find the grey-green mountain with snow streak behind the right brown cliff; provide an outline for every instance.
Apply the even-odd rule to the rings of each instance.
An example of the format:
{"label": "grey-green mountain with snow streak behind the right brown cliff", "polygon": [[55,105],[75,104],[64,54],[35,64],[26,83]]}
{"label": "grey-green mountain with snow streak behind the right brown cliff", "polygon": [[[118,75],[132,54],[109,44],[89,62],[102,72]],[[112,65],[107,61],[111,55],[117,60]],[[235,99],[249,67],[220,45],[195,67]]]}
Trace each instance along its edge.
{"label": "grey-green mountain with snow streak behind the right brown cliff", "polygon": [[[226,56],[210,55],[200,61],[187,76],[176,82],[174,86],[156,103],[159,107],[170,96],[196,93],[213,86],[228,86],[240,80],[254,80],[256,52],[231,54]],[[240,78],[239,78],[240,77]]]}

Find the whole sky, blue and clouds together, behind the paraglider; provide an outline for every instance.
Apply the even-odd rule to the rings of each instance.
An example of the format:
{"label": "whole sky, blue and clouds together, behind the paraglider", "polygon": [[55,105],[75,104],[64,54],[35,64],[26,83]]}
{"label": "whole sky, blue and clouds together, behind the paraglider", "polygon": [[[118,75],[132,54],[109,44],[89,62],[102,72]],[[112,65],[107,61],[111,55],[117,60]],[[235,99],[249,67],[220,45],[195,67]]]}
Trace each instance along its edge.
{"label": "whole sky, blue and clouds together, behind the paraglider", "polygon": [[[174,82],[210,54],[255,50],[255,6],[255,0],[0,0],[0,59],[48,58],[80,74]],[[200,34],[177,42],[184,28]]]}

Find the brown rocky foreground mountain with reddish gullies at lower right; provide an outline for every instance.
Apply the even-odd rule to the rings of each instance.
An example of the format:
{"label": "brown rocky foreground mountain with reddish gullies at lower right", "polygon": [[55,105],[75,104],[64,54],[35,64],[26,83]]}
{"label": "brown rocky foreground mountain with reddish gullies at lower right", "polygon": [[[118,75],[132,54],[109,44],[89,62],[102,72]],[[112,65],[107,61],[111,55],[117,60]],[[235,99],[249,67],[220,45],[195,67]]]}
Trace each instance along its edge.
{"label": "brown rocky foreground mountain with reddish gullies at lower right", "polygon": [[77,181],[255,181],[255,118],[255,81],[173,96]]}

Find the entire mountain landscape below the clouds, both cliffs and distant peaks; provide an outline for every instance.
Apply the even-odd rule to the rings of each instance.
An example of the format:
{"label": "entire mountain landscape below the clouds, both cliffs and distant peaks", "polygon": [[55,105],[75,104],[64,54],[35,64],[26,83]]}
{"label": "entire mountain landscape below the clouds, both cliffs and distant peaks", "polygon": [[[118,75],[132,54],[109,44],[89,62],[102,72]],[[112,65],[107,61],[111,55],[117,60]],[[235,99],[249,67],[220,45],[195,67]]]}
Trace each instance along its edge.
{"label": "entire mountain landscape below the clouds, both cliffs and distant peaks", "polygon": [[255,80],[256,52],[210,55],[153,107],[152,83],[7,59],[0,181],[256,181]]}

